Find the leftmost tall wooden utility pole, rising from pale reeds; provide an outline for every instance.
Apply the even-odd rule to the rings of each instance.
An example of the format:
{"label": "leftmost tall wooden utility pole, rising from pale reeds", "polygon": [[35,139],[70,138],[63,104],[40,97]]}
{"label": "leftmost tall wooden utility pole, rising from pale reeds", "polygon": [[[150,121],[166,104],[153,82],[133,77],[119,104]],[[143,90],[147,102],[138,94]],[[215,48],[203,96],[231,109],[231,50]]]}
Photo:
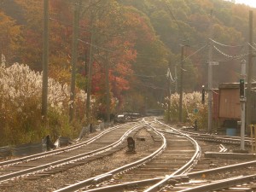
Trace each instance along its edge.
{"label": "leftmost tall wooden utility pole, rising from pale reeds", "polygon": [[47,116],[48,98],[48,61],[49,61],[49,0],[44,0],[44,42],[43,42],[43,84],[42,117]]}

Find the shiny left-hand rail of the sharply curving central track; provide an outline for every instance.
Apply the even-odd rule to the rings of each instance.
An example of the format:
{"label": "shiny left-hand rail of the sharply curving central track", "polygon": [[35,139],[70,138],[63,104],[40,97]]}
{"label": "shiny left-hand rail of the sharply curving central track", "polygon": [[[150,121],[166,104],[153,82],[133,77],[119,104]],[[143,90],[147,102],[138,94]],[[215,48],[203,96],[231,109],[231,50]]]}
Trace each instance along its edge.
{"label": "shiny left-hand rail of the sharply curving central track", "polygon": [[[148,125],[148,123],[145,122],[145,124]],[[151,127],[150,125],[148,125],[149,127]],[[160,146],[160,148],[158,148],[156,151],[154,151],[153,154],[150,154],[148,155],[147,157],[144,157],[143,159],[141,160],[137,160],[135,162],[132,162],[130,164],[127,164],[125,166],[121,166],[117,169],[114,169],[110,172],[106,172],[106,173],[103,173],[101,175],[98,175],[96,177],[90,177],[89,179],[86,179],[82,182],[79,182],[79,183],[74,183],[73,185],[69,185],[65,188],[62,188],[62,189],[57,189],[55,190],[55,192],[69,192],[69,191],[75,191],[75,190],[79,190],[79,189],[82,189],[88,185],[90,185],[91,183],[101,183],[105,180],[108,180],[110,179],[113,174],[117,174],[119,172],[125,172],[125,171],[128,171],[132,168],[136,168],[137,166],[141,166],[142,164],[148,162],[149,160],[152,160],[156,155],[160,154],[163,152],[163,150],[165,150],[166,148],[166,137],[164,137],[164,135],[162,133],[160,133],[159,131],[155,130],[153,128],[153,130],[158,134],[160,135],[160,137],[162,137],[162,140],[163,140],[163,143],[162,145]]]}

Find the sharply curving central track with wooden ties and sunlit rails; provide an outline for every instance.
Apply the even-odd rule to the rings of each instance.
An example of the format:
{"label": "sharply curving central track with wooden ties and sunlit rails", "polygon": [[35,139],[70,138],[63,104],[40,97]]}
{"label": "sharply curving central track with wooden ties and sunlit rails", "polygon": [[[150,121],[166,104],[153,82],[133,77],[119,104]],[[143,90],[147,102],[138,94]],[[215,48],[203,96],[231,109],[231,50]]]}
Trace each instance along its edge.
{"label": "sharply curving central track with wooden ties and sunlit rails", "polygon": [[[150,125],[148,123],[148,127],[152,131],[156,131],[156,125],[153,122],[150,122]],[[125,169],[124,166],[119,167],[111,172],[105,172],[55,191],[120,191],[121,188],[127,189],[131,186],[139,186],[140,188],[142,183],[143,185],[156,182],[163,184],[166,182],[166,179],[163,178],[166,175],[172,177],[173,175],[189,172],[189,169],[195,165],[195,161],[201,154],[201,150],[195,140],[178,131],[175,136],[170,134],[164,136],[158,131],[156,132],[162,137],[162,140],[156,137],[156,142],[163,144],[153,154],[148,155],[147,158],[130,163],[125,166]],[[177,136],[178,134],[180,135]],[[159,150],[160,153],[157,152]],[[102,183],[103,181],[105,182]],[[102,188],[93,189],[99,186],[102,186]]]}

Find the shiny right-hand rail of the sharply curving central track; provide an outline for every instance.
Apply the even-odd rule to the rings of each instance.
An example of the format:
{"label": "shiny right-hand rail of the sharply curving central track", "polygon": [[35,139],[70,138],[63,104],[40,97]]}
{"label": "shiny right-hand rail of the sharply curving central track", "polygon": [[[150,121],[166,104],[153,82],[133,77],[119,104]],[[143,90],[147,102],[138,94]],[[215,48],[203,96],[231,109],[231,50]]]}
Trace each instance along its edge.
{"label": "shiny right-hand rail of the sharply curving central track", "polygon": [[[181,136],[183,137],[187,137],[189,139],[189,141],[191,143],[193,143],[193,145],[195,146],[195,154],[193,155],[193,157],[189,160],[188,163],[186,163],[184,166],[182,166],[181,168],[179,168],[176,172],[173,172],[171,175],[165,177],[164,179],[162,179],[159,183],[155,183],[153,186],[149,187],[148,189],[144,190],[144,192],[156,192],[158,191],[160,188],[162,188],[164,185],[166,185],[168,183],[168,181],[175,175],[178,174],[184,174],[184,172],[188,172],[188,170],[195,165],[195,161],[198,160],[201,156],[201,148],[199,146],[199,144],[195,141],[195,139],[193,139],[192,137],[189,137],[189,135],[184,134],[181,131],[177,131],[174,128],[170,127],[169,125],[165,125],[163,123],[161,123],[160,121],[154,119],[155,122],[159,123],[160,125],[164,125],[167,126],[168,128],[171,128],[173,131],[176,131],[177,133],[179,133]],[[170,133],[170,132],[166,132],[166,133]]]}

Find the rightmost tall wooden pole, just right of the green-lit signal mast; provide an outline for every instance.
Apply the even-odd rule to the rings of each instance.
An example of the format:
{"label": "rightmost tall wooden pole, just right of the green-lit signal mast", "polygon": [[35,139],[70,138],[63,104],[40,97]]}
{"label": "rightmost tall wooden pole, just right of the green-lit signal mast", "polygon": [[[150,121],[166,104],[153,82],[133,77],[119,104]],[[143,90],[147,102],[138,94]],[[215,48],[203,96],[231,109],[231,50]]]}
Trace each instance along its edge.
{"label": "rightmost tall wooden pole, just right of the green-lit signal mast", "polygon": [[252,73],[253,73],[253,11],[249,12],[249,53],[248,53],[248,66],[247,66],[247,102],[246,102],[246,110],[247,110],[247,125],[246,129],[248,129],[251,124],[251,89],[252,89]]}

